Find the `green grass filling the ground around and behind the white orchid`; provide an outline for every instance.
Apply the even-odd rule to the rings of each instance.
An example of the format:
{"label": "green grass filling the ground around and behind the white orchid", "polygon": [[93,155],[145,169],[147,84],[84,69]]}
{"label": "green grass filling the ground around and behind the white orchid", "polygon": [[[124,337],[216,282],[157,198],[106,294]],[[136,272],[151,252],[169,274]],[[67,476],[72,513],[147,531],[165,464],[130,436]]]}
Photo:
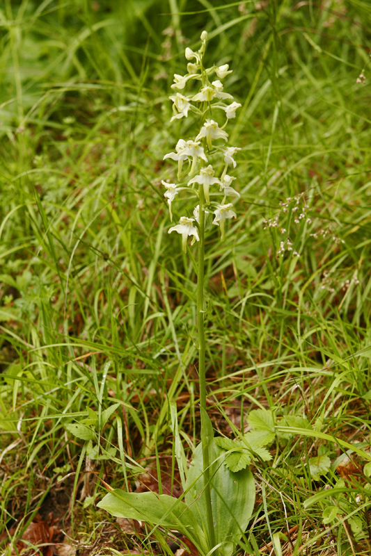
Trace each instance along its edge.
{"label": "green grass filling the ground around and behind the white orchid", "polygon": [[155,484],[148,466],[173,489],[169,402],[189,455],[200,438],[196,254],[167,234],[161,179],[185,129],[173,74],[205,28],[242,104],[237,220],[206,241],[207,403],[219,434],[253,409],[278,423],[242,550],[369,553],[368,2],[6,0],[0,21],[0,531],[54,507],[79,554],[171,553],[95,502],[99,479]]}

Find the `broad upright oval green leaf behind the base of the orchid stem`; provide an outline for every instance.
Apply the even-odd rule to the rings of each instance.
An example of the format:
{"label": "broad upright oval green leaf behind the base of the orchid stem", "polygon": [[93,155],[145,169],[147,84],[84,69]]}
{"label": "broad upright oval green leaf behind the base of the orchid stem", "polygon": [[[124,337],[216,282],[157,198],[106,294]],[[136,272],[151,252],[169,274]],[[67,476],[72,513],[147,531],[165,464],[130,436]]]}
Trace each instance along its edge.
{"label": "broad upright oval green leaf behind the base of the orchid stem", "polygon": [[[237,541],[246,530],[253,513],[255,484],[248,469],[232,473],[224,462],[225,452],[213,440],[210,444],[212,512],[215,524],[215,541],[220,543],[219,553],[230,556]],[[207,534],[207,514],[205,484],[203,479],[202,443],[194,451],[194,457],[187,473],[185,500],[194,513],[196,521],[205,528]],[[214,547],[209,547],[214,548]]]}

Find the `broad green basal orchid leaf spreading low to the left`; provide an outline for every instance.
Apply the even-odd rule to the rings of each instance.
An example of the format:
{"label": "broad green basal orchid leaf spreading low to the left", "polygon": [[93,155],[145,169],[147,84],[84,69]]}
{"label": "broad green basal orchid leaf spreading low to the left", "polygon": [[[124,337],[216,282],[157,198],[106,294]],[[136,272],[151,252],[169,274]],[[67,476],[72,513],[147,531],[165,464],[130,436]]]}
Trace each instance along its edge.
{"label": "broad green basal orchid leaf spreading low to the left", "polygon": [[98,502],[112,516],[148,521],[154,525],[170,527],[185,534],[203,553],[207,543],[194,514],[177,498],[155,492],[125,492],[116,489]]}

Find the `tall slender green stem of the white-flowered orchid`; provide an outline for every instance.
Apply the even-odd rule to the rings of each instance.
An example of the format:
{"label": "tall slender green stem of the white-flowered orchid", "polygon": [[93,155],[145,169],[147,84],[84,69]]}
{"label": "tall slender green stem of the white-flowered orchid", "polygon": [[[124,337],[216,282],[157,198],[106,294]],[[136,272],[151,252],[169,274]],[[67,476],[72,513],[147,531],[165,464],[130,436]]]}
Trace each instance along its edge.
{"label": "tall slender green stem of the white-flowered orchid", "polygon": [[[204,328],[204,274],[205,274],[205,209],[203,186],[199,188],[199,234],[198,242],[198,278],[197,278],[197,329],[198,329],[198,376],[200,379],[200,408],[201,408],[201,443],[203,446],[203,480],[205,484],[205,501],[207,512],[207,527],[209,530],[211,548],[215,546],[214,520],[212,518],[212,499],[210,488],[210,439],[207,436],[206,414],[206,373],[205,373],[205,328]],[[205,409],[205,411],[202,411]]]}

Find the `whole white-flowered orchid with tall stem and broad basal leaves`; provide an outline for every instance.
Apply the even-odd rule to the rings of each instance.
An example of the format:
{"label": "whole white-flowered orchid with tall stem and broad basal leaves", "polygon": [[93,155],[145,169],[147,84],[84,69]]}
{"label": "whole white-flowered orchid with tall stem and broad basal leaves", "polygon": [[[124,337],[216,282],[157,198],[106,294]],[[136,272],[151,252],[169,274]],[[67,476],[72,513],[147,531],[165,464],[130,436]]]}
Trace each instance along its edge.
{"label": "whole white-flowered orchid with tall stem and broad basal leaves", "polygon": [[[201,34],[198,51],[185,50],[189,60],[187,74],[175,74],[171,85],[175,95],[171,122],[193,116],[199,122],[194,138],[181,138],[175,152],[168,153],[164,160],[177,162],[177,183],[162,180],[166,191],[171,221],[173,202],[178,194],[187,191],[196,197],[192,215],[183,215],[179,223],[168,233],[176,231],[182,236],[182,250],[187,253],[187,240],[191,245],[198,242],[197,274],[197,328],[198,328],[198,375],[200,384],[201,441],[194,451],[191,466],[184,464],[185,455],[180,441],[175,436],[175,456],[180,468],[184,494],[176,499],[154,492],[127,493],[115,490],[107,494],[98,504],[114,516],[134,518],[141,521],[174,528],[185,534],[203,556],[219,553],[230,556],[246,530],[255,502],[255,484],[248,464],[255,455],[264,459],[262,444],[243,438],[238,443],[230,439],[214,439],[212,423],[206,409],[205,380],[205,310],[204,310],[204,256],[207,220],[219,227],[221,240],[226,233],[226,220],[237,218],[228,197],[238,198],[232,188],[228,168],[236,167],[235,154],[239,147],[228,146],[228,121],[235,117],[241,106],[232,95],[224,92],[223,83],[232,73],[228,64],[205,67],[203,58],[207,43],[207,32]],[[214,79],[216,76],[217,79]],[[212,79],[214,79],[212,81]],[[200,85],[196,94],[182,94],[191,83]],[[232,101],[232,102],[230,102]],[[216,114],[216,115],[215,115]],[[219,126],[216,120],[225,118]],[[215,118],[215,120],[213,119]],[[179,199],[181,195],[178,195]],[[214,218],[211,218],[214,215]],[[176,407],[171,404],[173,428],[177,430]],[[260,448],[260,449],[259,449]],[[270,458],[269,453],[265,454]]]}

